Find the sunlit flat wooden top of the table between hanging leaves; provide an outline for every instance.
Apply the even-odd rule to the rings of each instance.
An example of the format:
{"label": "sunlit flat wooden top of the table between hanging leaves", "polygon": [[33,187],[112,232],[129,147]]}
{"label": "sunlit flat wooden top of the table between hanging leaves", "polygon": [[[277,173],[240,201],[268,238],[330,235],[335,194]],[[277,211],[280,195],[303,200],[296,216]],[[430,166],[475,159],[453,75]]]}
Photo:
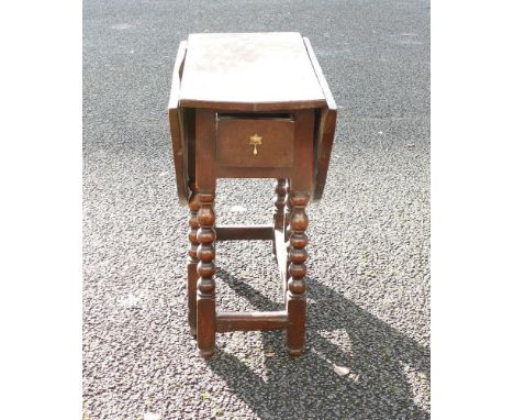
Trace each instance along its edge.
{"label": "sunlit flat wooden top of the table between hanging leaves", "polygon": [[179,101],[237,111],[326,106],[298,32],[189,35]]}

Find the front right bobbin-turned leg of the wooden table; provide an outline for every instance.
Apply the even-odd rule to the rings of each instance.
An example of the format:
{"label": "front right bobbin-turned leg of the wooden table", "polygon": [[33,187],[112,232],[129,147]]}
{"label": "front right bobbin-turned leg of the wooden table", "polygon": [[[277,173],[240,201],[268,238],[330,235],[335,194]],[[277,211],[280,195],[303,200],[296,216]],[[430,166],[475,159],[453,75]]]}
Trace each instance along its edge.
{"label": "front right bobbin-turned leg of the wooden table", "polygon": [[291,231],[289,236],[289,280],[287,292],[287,311],[289,327],[287,331],[288,351],[292,356],[299,356],[305,347],[305,261],[308,253],[308,235],[305,230],[309,225],[309,218],[305,207],[309,202],[309,195],[305,192],[290,194],[292,212],[290,214]]}

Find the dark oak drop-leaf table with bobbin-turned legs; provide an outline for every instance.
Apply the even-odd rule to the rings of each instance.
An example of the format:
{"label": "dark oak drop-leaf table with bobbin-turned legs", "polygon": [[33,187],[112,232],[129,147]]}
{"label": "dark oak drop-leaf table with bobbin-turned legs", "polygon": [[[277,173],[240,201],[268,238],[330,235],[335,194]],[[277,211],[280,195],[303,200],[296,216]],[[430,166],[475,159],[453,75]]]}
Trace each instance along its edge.
{"label": "dark oak drop-leaf table with bobbin-turned legs", "polygon": [[[299,33],[191,34],[180,43],[169,101],[177,191],[189,206],[189,325],[200,355],[215,333],[287,331],[304,350],[308,202],[328,170],[337,108],[308,38]],[[216,178],[275,178],[273,223],[215,225]],[[270,240],[284,310],[215,307],[215,241]]]}

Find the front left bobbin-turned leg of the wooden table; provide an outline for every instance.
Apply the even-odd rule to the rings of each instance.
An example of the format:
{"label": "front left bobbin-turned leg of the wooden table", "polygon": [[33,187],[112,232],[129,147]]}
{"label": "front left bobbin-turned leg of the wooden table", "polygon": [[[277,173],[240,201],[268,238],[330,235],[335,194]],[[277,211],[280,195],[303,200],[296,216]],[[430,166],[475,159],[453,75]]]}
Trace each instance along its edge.
{"label": "front left bobbin-turned leg of the wooden table", "polygon": [[197,239],[200,245],[197,256],[198,264],[198,291],[197,291],[197,325],[198,325],[198,349],[202,357],[210,357],[214,353],[216,332],[216,309],[215,309],[215,265],[214,265],[214,241],[216,232],[214,230],[214,192],[199,192],[200,209],[197,220],[200,229]]}

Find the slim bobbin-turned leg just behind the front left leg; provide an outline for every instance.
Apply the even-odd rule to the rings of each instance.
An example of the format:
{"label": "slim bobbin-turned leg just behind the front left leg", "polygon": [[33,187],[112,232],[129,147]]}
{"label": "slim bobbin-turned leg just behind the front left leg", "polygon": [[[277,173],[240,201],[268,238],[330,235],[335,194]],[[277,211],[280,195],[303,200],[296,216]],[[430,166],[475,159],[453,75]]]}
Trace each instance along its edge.
{"label": "slim bobbin-turned leg just behind the front left leg", "polygon": [[189,262],[188,262],[188,320],[191,334],[197,335],[197,281],[198,281],[198,224],[197,214],[200,209],[200,201],[197,191],[192,191],[189,198]]}

